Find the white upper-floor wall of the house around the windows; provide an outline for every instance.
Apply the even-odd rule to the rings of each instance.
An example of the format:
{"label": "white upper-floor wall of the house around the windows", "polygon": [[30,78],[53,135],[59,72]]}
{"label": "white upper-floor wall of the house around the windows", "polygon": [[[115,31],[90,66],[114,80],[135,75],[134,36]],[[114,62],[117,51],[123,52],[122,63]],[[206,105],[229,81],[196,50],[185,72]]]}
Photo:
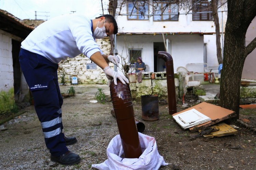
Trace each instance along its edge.
{"label": "white upper-floor wall of the house around the windows", "polygon": [[[120,3],[120,2],[119,2]],[[226,5],[226,4],[225,4]],[[226,10],[223,5],[218,11]],[[150,6],[152,8],[152,6]],[[152,9],[151,9],[152,11]],[[188,10],[180,9],[180,13],[187,13]],[[121,14],[127,14],[126,6],[122,8]],[[190,11],[189,13],[191,13]],[[221,17],[218,13],[220,28],[222,28]],[[223,25],[225,32],[225,24],[227,20],[227,12],[223,13]],[[179,21],[153,21],[153,17],[149,20],[127,20],[127,16],[116,17],[119,33],[142,33],[142,32],[215,32],[214,21],[193,21],[192,15],[180,15]],[[165,27],[165,28],[164,28]]]}

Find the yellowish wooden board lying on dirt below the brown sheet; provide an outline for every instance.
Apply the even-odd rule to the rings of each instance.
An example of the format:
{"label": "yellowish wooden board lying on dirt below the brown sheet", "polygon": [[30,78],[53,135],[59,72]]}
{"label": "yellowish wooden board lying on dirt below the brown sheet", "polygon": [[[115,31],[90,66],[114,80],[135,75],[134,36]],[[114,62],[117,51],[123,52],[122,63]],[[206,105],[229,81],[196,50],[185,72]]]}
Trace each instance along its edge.
{"label": "yellowish wooden board lying on dirt below the brown sheet", "polygon": [[219,131],[212,132],[209,135],[203,135],[204,138],[213,138],[237,134],[237,130],[232,128],[226,123],[218,123],[211,126],[212,128],[218,128]]}

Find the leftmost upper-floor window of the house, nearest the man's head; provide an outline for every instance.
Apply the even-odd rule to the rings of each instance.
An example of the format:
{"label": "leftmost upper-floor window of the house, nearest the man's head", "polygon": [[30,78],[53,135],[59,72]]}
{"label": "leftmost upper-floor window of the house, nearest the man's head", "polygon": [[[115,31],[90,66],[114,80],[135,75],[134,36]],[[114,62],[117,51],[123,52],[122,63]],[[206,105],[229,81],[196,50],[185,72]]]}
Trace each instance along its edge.
{"label": "leftmost upper-floor window of the house, nearest the man's head", "polygon": [[148,15],[148,4],[142,1],[128,1],[127,12],[129,14],[128,20],[148,20],[148,16],[146,16]]}

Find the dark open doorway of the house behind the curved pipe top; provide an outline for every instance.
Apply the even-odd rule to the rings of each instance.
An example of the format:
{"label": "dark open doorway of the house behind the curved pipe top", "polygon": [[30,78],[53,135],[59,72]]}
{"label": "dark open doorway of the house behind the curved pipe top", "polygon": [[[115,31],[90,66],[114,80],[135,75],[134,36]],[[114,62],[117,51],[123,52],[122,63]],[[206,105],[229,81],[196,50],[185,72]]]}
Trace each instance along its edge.
{"label": "dark open doorway of the house behind the curved pipe top", "polygon": [[157,57],[158,51],[165,51],[163,42],[154,43],[154,72],[164,71],[165,67],[165,61]]}

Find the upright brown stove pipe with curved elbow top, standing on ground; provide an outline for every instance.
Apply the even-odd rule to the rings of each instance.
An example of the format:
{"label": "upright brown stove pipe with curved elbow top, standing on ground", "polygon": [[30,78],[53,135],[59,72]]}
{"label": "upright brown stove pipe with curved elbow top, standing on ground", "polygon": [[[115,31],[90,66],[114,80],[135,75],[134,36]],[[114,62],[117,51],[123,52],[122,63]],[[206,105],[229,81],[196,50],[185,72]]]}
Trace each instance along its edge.
{"label": "upright brown stove pipe with curved elbow top, standing on ground", "polygon": [[158,58],[162,58],[165,61],[169,114],[172,115],[174,113],[177,113],[172,56],[165,51],[159,51],[157,56]]}

